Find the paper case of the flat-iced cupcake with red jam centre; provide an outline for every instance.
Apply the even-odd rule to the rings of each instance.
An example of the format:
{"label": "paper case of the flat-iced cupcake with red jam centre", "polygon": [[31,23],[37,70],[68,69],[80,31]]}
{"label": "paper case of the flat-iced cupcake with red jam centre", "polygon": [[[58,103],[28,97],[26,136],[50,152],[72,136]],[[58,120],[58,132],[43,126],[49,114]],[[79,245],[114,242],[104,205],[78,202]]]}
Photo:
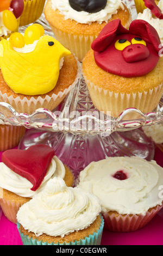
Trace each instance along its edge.
{"label": "paper case of the flat-iced cupcake with red jam centre", "polygon": [[152,218],[162,209],[163,205],[157,205],[151,211],[147,211],[146,215],[116,215],[107,212],[103,214],[104,228],[115,232],[130,232],[144,227]]}

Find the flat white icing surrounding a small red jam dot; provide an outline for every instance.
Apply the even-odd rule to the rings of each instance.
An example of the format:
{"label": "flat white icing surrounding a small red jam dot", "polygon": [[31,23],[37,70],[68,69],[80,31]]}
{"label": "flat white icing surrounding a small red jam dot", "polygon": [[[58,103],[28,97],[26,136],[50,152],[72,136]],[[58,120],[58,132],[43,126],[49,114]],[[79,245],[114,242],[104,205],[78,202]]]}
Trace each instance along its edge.
{"label": "flat white icing surrounding a small red jam dot", "polygon": [[[127,179],[118,180],[118,170],[127,174]],[[145,215],[149,208],[162,204],[159,197],[163,185],[163,168],[155,161],[139,157],[106,157],[92,162],[79,175],[78,187],[98,197],[102,211],[117,211],[119,214]]]}

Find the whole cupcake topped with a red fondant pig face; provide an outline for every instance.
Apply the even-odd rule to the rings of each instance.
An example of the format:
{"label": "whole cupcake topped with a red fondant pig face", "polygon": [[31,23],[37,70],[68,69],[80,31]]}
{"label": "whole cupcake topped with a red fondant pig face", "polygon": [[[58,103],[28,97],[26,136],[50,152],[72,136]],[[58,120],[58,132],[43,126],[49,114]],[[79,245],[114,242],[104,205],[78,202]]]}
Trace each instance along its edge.
{"label": "whole cupcake topped with a red fondant pig face", "polygon": [[158,106],[163,92],[163,59],[156,30],[143,20],[129,29],[109,22],[83,60],[83,76],[93,105],[117,118],[125,109],[143,113]]}

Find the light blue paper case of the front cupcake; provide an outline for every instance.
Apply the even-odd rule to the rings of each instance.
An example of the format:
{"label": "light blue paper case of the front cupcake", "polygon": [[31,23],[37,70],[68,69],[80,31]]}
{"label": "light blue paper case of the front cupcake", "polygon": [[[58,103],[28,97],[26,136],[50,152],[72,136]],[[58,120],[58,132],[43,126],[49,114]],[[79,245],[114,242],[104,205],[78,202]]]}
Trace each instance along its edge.
{"label": "light blue paper case of the front cupcake", "polygon": [[17,222],[17,229],[19,231],[19,234],[21,236],[21,240],[23,245],[101,245],[101,239],[102,239],[102,233],[103,233],[103,228],[104,228],[104,219],[101,215],[101,225],[99,229],[93,233],[93,235],[89,235],[88,237],[85,237],[85,239],[80,239],[79,241],[74,241],[74,242],[69,242],[69,243],[48,243],[48,242],[43,242],[37,241],[37,239],[32,239],[32,237],[28,237],[27,235],[24,235],[23,233],[20,232],[20,223]]}

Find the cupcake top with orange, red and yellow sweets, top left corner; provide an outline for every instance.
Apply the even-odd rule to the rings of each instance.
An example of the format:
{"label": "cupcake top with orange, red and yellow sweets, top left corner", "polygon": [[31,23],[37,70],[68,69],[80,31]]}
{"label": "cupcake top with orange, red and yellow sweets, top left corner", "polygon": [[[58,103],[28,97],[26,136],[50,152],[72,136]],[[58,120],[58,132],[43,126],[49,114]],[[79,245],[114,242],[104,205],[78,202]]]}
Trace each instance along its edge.
{"label": "cupcake top with orange, red and yellow sweets, top left corner", "polygon": [[0,40],[7,39],[11,33],[18,31],[23,8],[23,0],[1,0]]}

